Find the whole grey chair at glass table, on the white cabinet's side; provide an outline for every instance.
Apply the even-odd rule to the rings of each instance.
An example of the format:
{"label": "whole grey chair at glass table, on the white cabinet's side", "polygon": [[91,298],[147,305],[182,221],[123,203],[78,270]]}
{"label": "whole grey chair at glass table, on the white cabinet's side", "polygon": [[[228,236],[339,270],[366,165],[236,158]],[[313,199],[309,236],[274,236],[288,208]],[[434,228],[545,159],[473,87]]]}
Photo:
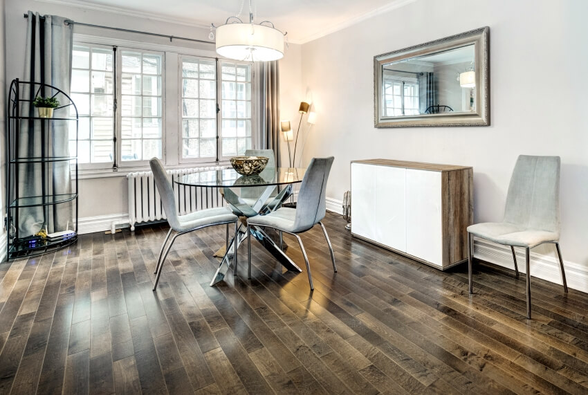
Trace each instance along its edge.
{"label": "whole grey chair at glass table, on the white cabinet's side", "polygon": [[300,244],[302,256],[306,263],[306,273],[309,275],[309,283],[311,290],[314,289],[313,277],[311,275],[311,266],[309,265],[309,257],[306,255],[302,239],[298,236],[299,233],[306,232],[320,224],[324,238],[327,239],[329,250],[331,251],[331,261],[333,262],[333,270],[337,272],[335,266],[335,255],[333,254],[333,246],[331,240],[327,235],[327,230],[321,220],[326,214],[327,205],[325,203],[325,190],[327,190],[327,179],[329,172],[331,172],[331,165],[333,165],[333,156],[329,158],[313,158],[309,167],[306,169],[306,174],[302,179],[300,185],[300,192],[298,194],[296,208],[278,208],[266,215],[256,215],[247,219],[247,244],[248,244],[248,276],[251,278],[251,226],[267,226],[274,228],[279,232],[280,239],[282,239],[282,232],[293,235]]}

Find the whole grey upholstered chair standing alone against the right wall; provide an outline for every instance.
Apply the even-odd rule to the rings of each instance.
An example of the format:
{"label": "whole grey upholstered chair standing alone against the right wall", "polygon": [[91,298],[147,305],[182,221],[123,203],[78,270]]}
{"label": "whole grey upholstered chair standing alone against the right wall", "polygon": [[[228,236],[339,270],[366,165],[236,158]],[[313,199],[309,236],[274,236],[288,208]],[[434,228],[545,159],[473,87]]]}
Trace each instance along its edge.
{"label": "whole grey upholstered chair standing alone against the right wall", "polygon": [[506,195],[502,222],[476,223],[468,226],[468,279],[472,287],[472,238],[481,237],[510,246],[519,277],[515,247],[524,247],[526,261],[526,316],[531,319],[531,248],[544,243],[555,244],[560,260],[564,292],[567,292],[564,261],[560,251],[560,157],[526,156],[517,159]]}

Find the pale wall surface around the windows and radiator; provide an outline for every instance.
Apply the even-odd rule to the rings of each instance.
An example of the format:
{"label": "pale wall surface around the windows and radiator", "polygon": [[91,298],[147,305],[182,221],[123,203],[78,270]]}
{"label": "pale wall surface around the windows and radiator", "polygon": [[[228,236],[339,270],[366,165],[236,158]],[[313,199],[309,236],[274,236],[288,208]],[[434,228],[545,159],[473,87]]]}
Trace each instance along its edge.
{"label": "pale wall surface around the windows and radiator", "polygon": [[[28,10],[39,12],[42,15],[59,15],[61,17],[72,19],[73,21],[87,24],[98,24],[131,30],[148,31],[164,35],[208,40],[208,29],[194,28],[185,24],[171,24],[140,17],[129,17],[129,15],[118,15],[111,12],[84,10],[82,8],[46,3],[44,1],[6,0],[6,42],[8,43],[6,48],[8,55],[6,75],[9,81],[16,77],[23,77],[24,46],[26,40],[26,19],[24,19],[23,14]],[[200,44],[176,39],[170,43],[169,39],[163,37],[121,33],[113,30],[87,28],[83,26],[76,26],[74,32],[83,35],[127,39],[134,42],[147,42],[167,46],[171,45],[201,50],[212,50],[214,52],[214,46],[209,44]],[[293,116],[290,113],[291,109],[293,109],[293,112],[297,113],[299,103],[295,102],[300,102],[301,100],[300,95],[298,94],[300,91],[301,80],[300,53],[300,46],[291,44],[286,53],[286,57],[280,63],[282,68],[280,82],[283,86],[281,102],[282,108],[285,109],[284,113],[286,116]],[[177,84],[176,80],[170,79],[168,79],[166,83]],[[2,86],[4,85],[5,84],[2,84]],[[168,107],[169,104],[170,103],[168,103]],[[172,132],[170,130],[172,129],[172,125],[177,129],[177,120],[172,120],[170,118],[172,117],[168,116],[166,120],[166,133]],[[287,150],[283,151],[282,154],[286,155],[282,156],[283,158],[287,158]],[[89,217],[128,212],[127,178],[125,176],[80,179],[79,193],[80,223],[83,223],[84,219],[88,219]]]}

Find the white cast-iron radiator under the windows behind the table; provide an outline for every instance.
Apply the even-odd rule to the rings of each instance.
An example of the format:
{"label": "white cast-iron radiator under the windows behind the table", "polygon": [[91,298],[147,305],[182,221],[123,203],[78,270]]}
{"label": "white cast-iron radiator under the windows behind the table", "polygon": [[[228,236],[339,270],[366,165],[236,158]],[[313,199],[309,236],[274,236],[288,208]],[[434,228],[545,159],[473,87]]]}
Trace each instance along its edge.
{"label": "white cast-iron radiator under the windows behind the table", "polygon": [[[196,210],[226,205],[217,187],[187,187],[174,182],[185,174],[226,168],[214,166],[167,170],[168,176],[172,178],[178,214],[184,215]],[[163,205],[161,204],[152,172],[129,173],[127,174],[127,181],[129,182],[129,223],[131,224],[131,230],[135,230],[135,225],[138,223],[167,219],[165,212],[163,212]]]}

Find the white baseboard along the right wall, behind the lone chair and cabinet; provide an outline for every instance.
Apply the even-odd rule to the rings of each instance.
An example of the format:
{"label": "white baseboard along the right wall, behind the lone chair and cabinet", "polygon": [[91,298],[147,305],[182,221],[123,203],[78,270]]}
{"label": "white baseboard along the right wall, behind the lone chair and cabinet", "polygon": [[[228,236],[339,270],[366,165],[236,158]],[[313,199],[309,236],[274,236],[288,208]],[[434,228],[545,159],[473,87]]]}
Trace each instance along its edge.
{"label": "white baseboard along the right wall, behind the lone chair and cabinet", "polygon": [[[342,201],[329,197],[327,197],[326,201],[327,210],[338,214],[343,213]],[[351,218],[351,222],[353,222],[353,218]],[[521,273],[526,273],[524,249],[515,248],[515,252],[517,255],[519,271]],[[563,248],[562,254],[565,256],[565,248]],[[513,270],[515,268],[513,254],[510,247],[501,246],[500,244],[495,244],[484,239],[474,239],[474,257],[504,268]],[[588,268],[577,264],[576,262],[565,260],[564,268],[566,270],[568,287],[588,293]],[[551,256],[539,254],[538,252],[533,252],[533,250],[531,250],[531,275],[555,284],[562,284],[560,261],[558,261],[555,255],[555,246],[553,246],[553,255]]]}

